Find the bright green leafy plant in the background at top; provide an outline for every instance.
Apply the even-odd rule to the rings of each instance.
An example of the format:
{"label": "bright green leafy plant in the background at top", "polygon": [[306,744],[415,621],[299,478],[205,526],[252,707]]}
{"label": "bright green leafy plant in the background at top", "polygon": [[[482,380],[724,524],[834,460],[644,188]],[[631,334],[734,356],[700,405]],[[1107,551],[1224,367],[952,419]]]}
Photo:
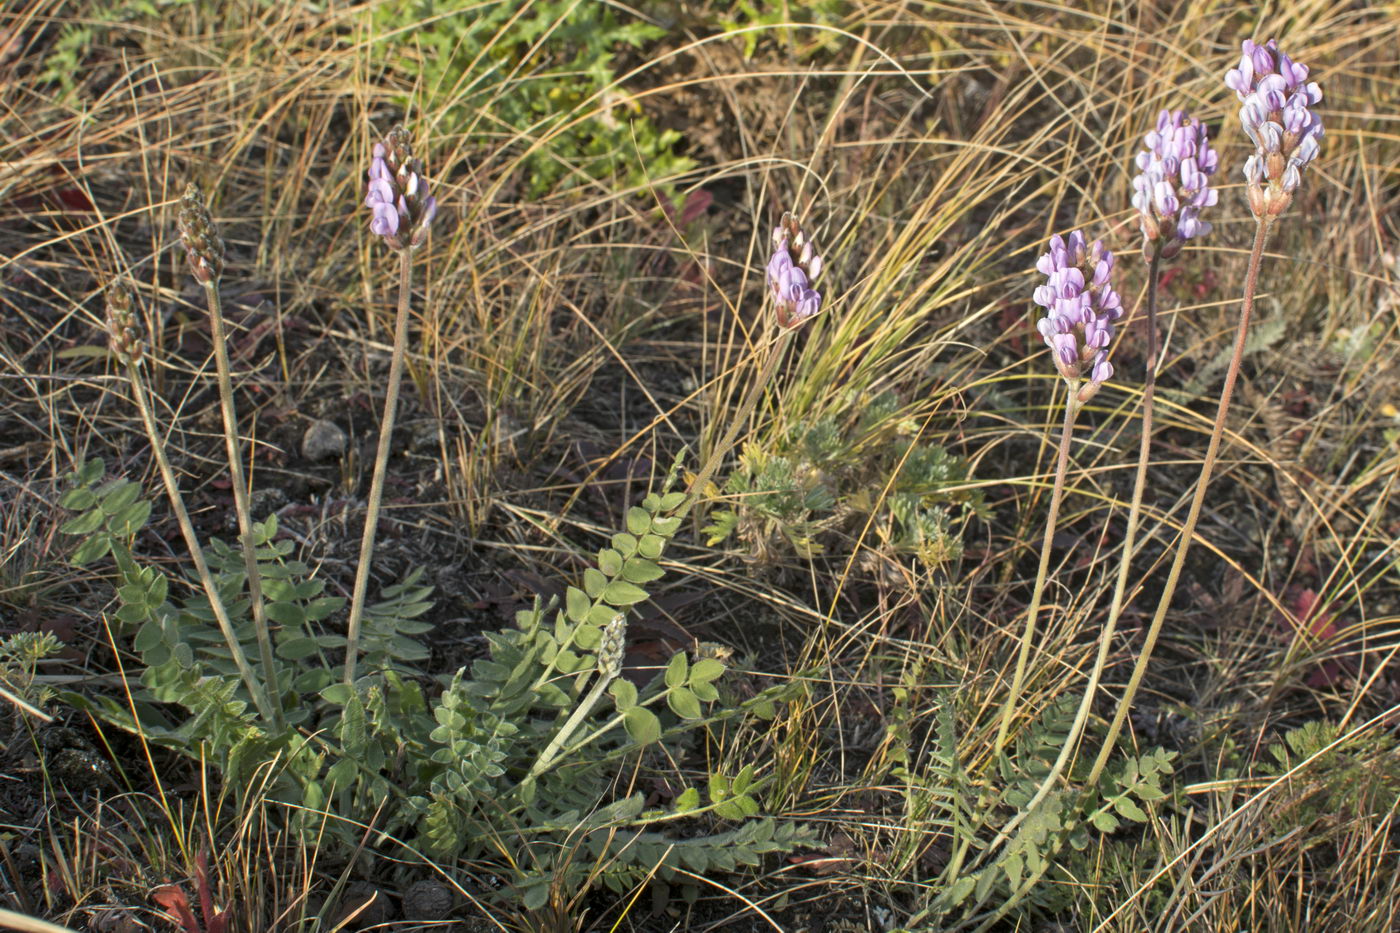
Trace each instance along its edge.
{"label": "bright green leafy plant in the background at top", "polygon": [[445,111],[442,132],[507,143],[532,196],[591,181],[641,186],[694,164],[676,153],[680,134],[657,129],[619,88],[617,50],[666,35],[619,6],[407,0],[371,17],[374,35],[395,36],[385,42],[407,35],[423,49],[424,106]]}

